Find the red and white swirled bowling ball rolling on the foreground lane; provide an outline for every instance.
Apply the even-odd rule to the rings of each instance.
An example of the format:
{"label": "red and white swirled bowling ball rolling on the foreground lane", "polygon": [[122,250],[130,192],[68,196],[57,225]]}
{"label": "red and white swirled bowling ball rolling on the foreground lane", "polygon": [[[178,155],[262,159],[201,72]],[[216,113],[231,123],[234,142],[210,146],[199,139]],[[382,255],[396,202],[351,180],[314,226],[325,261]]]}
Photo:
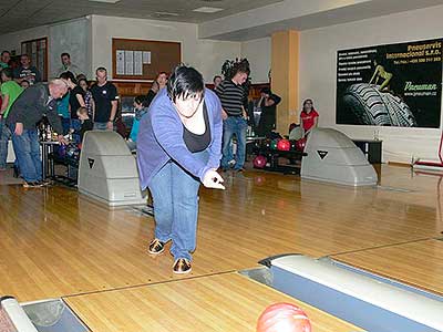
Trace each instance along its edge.
{"label": "red and white swirled bowling ball rolling on the foreground lane", "polygon": [[311,332],[311,322],[297,305],[275,303],[260,314],[257,332]]}

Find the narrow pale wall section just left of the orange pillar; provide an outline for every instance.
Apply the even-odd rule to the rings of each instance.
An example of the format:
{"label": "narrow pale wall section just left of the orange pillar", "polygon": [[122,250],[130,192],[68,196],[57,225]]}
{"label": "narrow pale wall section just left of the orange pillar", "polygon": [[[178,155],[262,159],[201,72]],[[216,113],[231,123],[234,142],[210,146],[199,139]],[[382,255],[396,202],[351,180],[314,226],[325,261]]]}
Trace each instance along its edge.
{"label": "narrow pale wall section just left of the orange pillar", "polygon": [[270,70],[271,39],[260,38],[241,43],[241,58],[250,64],[253,83],[268,83]]}

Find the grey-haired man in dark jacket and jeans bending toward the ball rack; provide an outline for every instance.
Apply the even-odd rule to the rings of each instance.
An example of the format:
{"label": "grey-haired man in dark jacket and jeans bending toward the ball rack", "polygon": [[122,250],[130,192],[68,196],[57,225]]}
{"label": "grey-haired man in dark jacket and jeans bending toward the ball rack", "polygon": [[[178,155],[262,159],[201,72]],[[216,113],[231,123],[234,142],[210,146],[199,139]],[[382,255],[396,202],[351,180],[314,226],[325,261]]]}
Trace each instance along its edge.
{"label": "grey-haired man in dark jacket and jeans bending toward the ball rack", "polygon": [[68,83],[53,80],[49,84],[38,83],[28,87],[12,104],[7,118],[12,132],[12,145],[20,172],[24,178],[24,187],[41,187],[42,163],[37,123],[45,115],[59,134],[58,141],[66,144],[62,133],[62,124],[56,112],[56,100],[68,92]]}

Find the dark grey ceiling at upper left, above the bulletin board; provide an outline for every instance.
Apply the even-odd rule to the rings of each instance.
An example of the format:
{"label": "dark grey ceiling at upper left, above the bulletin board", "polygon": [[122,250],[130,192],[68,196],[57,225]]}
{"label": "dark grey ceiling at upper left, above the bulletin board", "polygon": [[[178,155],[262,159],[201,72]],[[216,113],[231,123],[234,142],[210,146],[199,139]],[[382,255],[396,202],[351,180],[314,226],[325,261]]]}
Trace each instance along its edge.
{"label": "dark grey ceiling at upper left, above the bulletin board", "polygon": [[[281,0],[0,0],[0,33],[66,21],[87,14],[202,23]],[[223,8],[216,13],[194,12],[200,7]],[[168,15],[167,13],[172,13]]]}

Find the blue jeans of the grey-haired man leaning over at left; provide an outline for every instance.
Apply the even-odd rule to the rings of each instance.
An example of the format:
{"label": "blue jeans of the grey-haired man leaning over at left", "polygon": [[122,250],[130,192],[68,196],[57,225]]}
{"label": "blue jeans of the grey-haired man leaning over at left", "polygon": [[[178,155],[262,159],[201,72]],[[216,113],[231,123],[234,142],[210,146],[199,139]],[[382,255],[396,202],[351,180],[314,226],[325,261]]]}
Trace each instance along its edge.
{"label": "blue jeans of the grey-haired man leaning over at left", "polygon": [[[14,131],[14,125],[10,127]],[[37,129],[23,129],[20,136],[12,133],[12,145],[20,173],[28,183],[42,179],[42,162],[40,158],[40,142]]]}

